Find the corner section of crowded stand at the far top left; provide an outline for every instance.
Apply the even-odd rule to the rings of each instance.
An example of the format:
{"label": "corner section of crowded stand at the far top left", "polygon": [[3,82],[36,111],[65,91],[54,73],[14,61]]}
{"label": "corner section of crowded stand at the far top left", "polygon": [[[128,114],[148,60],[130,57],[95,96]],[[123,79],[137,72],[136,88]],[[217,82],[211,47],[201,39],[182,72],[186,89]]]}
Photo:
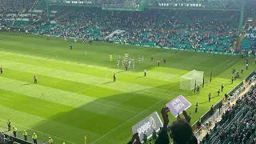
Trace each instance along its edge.
{"label": "corner section of crowded stand at the far top left", "polygon": [[[3,0],[0,4],[0,27],[24,28],[46,21],[45,0]],[[50,6],[50,18],[54,18],[62,6]]]}

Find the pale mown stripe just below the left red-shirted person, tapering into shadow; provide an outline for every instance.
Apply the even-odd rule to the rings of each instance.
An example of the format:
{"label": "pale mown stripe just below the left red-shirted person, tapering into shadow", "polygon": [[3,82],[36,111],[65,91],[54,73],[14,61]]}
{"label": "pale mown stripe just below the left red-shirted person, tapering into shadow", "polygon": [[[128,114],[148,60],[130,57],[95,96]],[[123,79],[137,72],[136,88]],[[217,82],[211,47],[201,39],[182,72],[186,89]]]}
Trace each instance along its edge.
{"label": "pale mown stripe just below the left red-shirted person, tapering into shadow", "polygon": [[[123,111],[126,111],[127,117],[136,113],[135,111],[128,110],[122,107],[97,102],[96,99],[85,97],[81,94],[74,94],[68,91],[58,90],[46,86],[39,86],[27,82],[21,82],[10,78],[0,77],[0,80],[2,82],[0,90],[8,90],[33,98],[39,98],[49,102],[59,103],[64,106],[72,106],[74,108],[81,108],[82,110],[92,111],[94,113],[106,114],[110,116],[115,116],[114,114],[117,114],[118,112],[122,113]],[[91,106],[93,106],[94,109],[91,109]]]}

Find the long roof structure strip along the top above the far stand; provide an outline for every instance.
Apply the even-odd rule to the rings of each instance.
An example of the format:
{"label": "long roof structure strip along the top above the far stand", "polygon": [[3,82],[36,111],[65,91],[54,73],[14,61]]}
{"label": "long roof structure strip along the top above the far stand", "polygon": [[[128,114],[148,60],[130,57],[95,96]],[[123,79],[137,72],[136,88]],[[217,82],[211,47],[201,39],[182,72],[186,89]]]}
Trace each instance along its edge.
{"label": "long roof structure strip along the top above the far stand", "polygon": [[[153,8],[171,10],[241,10],[247,0],[49,0],[53,5]],[[248,0],[250,1],[250,0]]]}

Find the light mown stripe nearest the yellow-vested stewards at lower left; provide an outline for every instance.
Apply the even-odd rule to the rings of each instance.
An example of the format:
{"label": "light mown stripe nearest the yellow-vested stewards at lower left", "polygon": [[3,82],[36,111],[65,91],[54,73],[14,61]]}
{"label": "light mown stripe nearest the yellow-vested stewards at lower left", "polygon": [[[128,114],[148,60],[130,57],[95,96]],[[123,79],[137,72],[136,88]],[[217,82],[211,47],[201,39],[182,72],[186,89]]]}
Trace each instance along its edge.
{"label": "light mown stripe nearest the yellow-vested stewards at lower left", "polygon": [[[0,109],[0,123],[2,126],[6,126],[6,121],[4,120],[11,118],[10,120],[13,123],[13,126],[16,126],[19,132],[22,132],[22,130],[26,130],[29,135],[32,135],[35,132],[38,135],[39,139],[47,140],[48,137],[53,137],[55,142],[63,142],[62,139],[66,139],[64,140],[64,142],[66,141],[78,143],[82,142],[81,138],[84,137],[83,134],[87,134],[92,139],[96,139],[98,138],[98,136],[101,135],[91,132],[89,130],[82,130],[81,128],[70,126],[70,124],[66,125],[61,122],[55,122],[50,120],[49,118],[42,118],[34,114],[27,114],[26,112],[23,112],[21,110],[15,110],[8,106],[0,105]],[[35,126],[39,126],[43,123],[47,123],[47,126],[45,125],[35,128]],[[66,133],[60,133],[59,130],[62,130],[63,127],[65,127]],[[70,132],[72,132],[72,134]]]}

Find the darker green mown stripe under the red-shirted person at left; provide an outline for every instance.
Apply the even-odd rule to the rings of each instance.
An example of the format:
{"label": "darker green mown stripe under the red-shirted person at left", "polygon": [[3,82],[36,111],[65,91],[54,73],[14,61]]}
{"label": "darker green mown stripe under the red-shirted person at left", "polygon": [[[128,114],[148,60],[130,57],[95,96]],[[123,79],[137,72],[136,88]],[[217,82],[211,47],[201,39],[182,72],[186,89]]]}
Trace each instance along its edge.
{"label": "darker green mown stripe under the red-shirted person at left", "polygon": [[[16,75],[20,75],[20,77],[16,77]],[[5,69],[5,74],[2,74],[2,77],[27,82],[27,84],[33,84],[33,79],[30,77],[30,75],[33,74],[23,71]],[[72,94],[83,94],[86,99],[98,98],[97,102],[100,102],[102,104],[118,106],[125,108],[126,110],[133,111],[141,111],[149,106],[151,103],[157,101],[158,98],[162,98],[162,95],[165,95],[159,93],[158,95],[156,95],[155,91],[152,89],[122,93],[116,90],[109,90],[98,86],[90,88],[88,87],[90,85],[85,86],[86,84],[82,84],[79,82],[66,81],[59,78],[50,78],[44,75],[38,75],[38,77],[42,79],[40,82],[37,83],[37,85],[39,86],[46,86],[57,90],[64,90],[71,92]],[[169,88],[169,86],[166,86],[166,91]],[[50,93],[50,91],[48,93]],[[70,95],[70,97],[72,97],[72,95]],[[133,102],[139,102],[140,98],[146,99],[147,102],[140,105],[134,105]]]}

